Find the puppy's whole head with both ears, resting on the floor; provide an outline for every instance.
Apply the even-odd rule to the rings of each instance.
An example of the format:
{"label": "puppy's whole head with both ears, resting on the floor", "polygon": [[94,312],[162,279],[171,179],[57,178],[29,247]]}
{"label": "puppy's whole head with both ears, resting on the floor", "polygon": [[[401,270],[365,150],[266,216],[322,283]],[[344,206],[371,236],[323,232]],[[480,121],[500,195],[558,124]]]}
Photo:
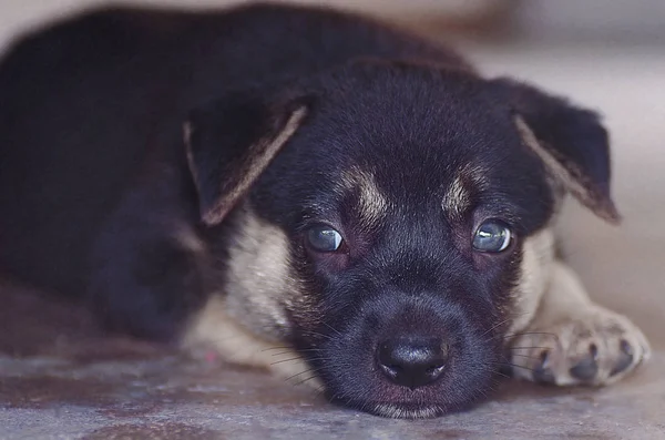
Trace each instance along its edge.
{"label": "puppy's whole head with both ears, resting on the floor", "polygon": [[202,218],[233,231],[226,319],[382,416],[491,389],[546,285],[565,192],[617,219],[593,113],[458,70],[352,63],[229,95],[187,139]]}

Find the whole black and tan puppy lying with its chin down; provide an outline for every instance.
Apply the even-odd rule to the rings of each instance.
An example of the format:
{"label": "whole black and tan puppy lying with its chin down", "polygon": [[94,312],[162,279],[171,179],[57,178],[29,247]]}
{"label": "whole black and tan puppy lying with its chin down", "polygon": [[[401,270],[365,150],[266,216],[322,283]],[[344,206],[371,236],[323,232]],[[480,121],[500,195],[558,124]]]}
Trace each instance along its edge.
{"label": "whole black and tan puppy lying with its chin down", "polygon": [[110,329],[408,418],[502,365],[604,385],[648,357],[554,256],[566,193],[618,218],[597,116],[446,48],[315,9],[104,10],[20,41],[0,103],[0,262]]}

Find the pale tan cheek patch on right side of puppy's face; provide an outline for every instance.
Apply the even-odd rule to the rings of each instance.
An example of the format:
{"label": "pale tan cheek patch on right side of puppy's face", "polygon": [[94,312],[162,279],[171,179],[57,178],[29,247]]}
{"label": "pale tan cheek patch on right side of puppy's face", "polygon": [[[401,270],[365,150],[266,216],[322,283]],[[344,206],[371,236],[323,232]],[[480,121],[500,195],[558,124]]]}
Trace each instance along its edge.
{"label": "pale tan cheek patch on right side of puppy's face", "polygon": [[554,232],[545,227],[526,237],[516,284],[511,293],[512,324],[508,334],[523,331],[535,316],[541,298],[548,288],[554,262]]}

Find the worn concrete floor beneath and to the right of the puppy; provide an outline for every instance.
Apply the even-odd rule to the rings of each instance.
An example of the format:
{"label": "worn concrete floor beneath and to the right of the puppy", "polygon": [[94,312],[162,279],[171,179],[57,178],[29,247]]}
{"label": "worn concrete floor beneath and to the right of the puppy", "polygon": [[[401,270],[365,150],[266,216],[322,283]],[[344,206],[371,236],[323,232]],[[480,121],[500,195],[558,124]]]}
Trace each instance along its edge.
{"label": "worn concrete floor beneath and to the right of the puppy", "polygon": [[470,412],[385,420],[260,371],[102,339],[83,310],[6,282],[0,439],[665,439],[665,48],[467,49],[490,74],[515,74],[605,114],[624,225],[571,204],[562,229],[593,296],[649,337],[649,364],[606,389],[504,383]]}

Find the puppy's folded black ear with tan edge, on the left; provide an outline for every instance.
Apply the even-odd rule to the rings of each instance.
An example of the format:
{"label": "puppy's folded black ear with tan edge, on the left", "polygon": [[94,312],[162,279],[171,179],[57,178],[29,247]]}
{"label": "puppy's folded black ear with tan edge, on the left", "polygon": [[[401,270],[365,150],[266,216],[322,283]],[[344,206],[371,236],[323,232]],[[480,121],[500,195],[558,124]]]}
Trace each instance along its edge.
{"label": "puppy's folded black ear with tan edge, on the left", "polygon": [[205,224],[224,219],[306,114],[303,99],[269,100],[258,91],[229,93],[190,114],[185,145]]}

